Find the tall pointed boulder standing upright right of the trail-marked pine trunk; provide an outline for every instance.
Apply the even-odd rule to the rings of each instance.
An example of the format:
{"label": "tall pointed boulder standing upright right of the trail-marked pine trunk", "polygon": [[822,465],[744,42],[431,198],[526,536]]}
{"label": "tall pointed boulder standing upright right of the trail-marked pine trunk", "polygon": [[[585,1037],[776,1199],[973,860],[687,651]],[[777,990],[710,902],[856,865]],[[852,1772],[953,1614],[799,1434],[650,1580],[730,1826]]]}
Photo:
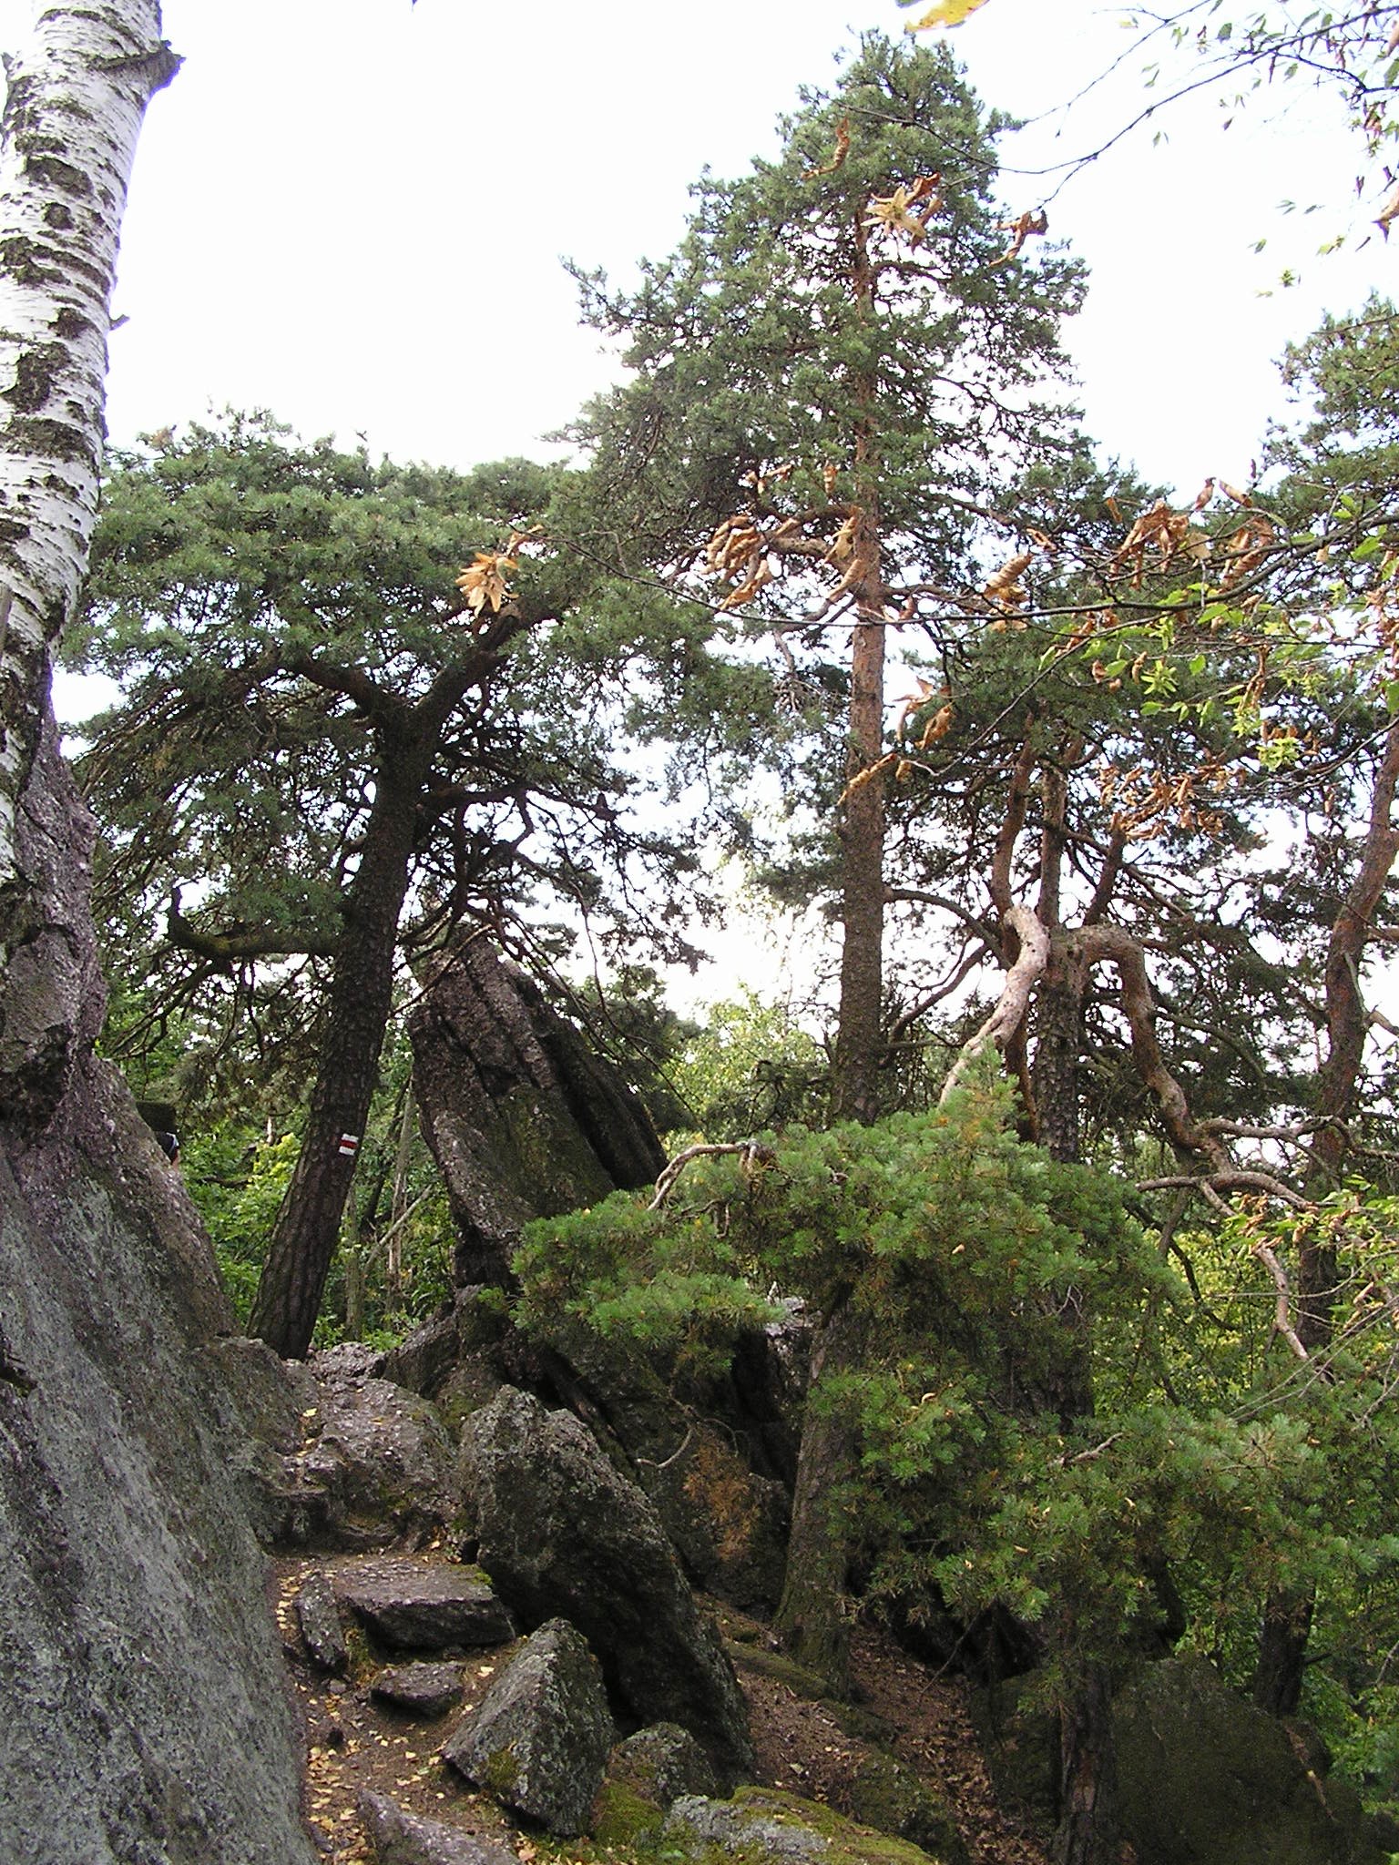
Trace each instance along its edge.
{"label": "tall pointed boulder standing upright right of the trail-marked pine trunk", "polygon": [[651,1184],[666,1164],[640,1098],[487,940],[438,964],[409,1035],[459,1285],[506,1285],[528,1218]]}

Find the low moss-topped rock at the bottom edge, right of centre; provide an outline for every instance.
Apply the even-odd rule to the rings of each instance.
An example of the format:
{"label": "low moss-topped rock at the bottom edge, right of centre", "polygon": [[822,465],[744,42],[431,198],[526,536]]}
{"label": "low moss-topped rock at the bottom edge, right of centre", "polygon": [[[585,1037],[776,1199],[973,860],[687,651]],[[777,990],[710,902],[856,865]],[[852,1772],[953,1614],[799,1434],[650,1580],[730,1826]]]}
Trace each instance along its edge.
{"label": "low moss-topped rock at the bottom edge, right of centre", "polygon": [[686,1794],[670,1809],[660,1833],[664,1858],[701,1859],[720,1852],[746,1859],[826,1861],[826,1865],[944,1865],[905,1839],[856,1826],[800,1794],[744,1787],[733,1800]]}

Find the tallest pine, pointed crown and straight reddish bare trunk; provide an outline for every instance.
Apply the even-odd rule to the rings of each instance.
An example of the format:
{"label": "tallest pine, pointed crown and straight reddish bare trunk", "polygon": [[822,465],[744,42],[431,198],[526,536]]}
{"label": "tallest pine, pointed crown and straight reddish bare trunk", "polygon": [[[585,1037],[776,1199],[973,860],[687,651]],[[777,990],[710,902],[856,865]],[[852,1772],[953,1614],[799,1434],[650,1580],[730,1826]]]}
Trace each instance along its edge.
{"label": "tallest pine, pointed crown and straight reddish bare trunk", "polygon": [[634,371],[576,429],[595,545],[770,632],[796,711],[843,692],[843,1119],[875,1117],[884,1061],[886,636],[966,580],[1007,476],[1067,444],[1039,390],[1082,280],[1045,248],[1032,263],[1043,218],[998,216],[1000,127],[946,50],[867,37],[774,162],[701,179],[686,239],[634,293],[584,280]]}

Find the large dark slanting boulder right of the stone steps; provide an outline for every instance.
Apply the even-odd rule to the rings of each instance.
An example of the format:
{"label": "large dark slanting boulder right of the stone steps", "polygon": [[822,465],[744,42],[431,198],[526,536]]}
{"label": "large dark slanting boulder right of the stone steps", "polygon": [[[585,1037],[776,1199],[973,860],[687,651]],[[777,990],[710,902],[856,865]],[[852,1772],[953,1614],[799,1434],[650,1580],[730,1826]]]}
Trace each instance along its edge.
{"label": "large dark slanting boulder right of the stone steps", "polygon": [[752,1775],[748,1708],[653,1505],[569,1412],[506,1388],[463,1429],[478,1557],[526,1624],[565,1613],[642,1723],[681,1723],[724,1787]]}

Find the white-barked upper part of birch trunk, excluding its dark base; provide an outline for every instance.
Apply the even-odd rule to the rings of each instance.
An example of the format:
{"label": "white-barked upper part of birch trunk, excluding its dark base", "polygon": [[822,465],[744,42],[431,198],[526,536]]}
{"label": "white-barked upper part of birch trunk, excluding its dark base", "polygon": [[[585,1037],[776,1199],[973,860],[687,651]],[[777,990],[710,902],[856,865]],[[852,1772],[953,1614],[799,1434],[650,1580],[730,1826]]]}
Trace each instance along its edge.
{"label": "white-barked upper part of birch trunk, excluding its dark base", "polygon": [[[0,121],[0,957],[32,877],[17,811],[50,651],[88,563],[118,233],[145,104],[179,60],[159,0],[35,7]],[[19,897],[17,897],[19,895]]]}

